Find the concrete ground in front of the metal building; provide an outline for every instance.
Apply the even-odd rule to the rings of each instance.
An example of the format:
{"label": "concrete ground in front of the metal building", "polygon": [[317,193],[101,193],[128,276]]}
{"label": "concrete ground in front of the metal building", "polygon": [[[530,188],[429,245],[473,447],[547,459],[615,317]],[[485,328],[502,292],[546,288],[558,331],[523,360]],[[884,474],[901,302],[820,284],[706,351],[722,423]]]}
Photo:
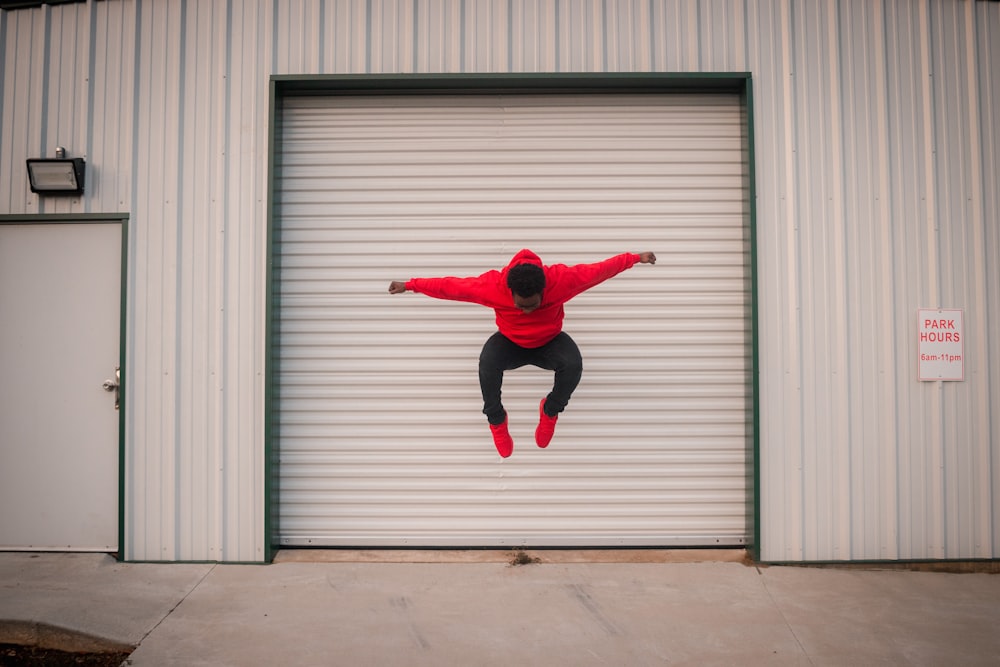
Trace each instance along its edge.
{"label": "concrete ground in front of the metal building", "polygon": [[1000,664],[992,574],[758,567],[740,552],[528,555],[542,562],[0,553],[0,643],[137,646],[128,662],[157,667]]}

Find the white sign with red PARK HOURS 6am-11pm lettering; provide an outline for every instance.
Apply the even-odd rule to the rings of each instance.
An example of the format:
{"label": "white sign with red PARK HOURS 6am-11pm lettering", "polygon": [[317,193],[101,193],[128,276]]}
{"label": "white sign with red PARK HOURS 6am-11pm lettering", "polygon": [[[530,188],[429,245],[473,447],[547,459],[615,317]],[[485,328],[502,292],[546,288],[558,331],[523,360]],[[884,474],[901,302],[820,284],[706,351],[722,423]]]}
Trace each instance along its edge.
{"label": "white sign with red PARK HOURS 6am-11pm lettering", "polygon": [[921,382],[965,380],[963,311],[922,308],[917,311],[917,363]]}

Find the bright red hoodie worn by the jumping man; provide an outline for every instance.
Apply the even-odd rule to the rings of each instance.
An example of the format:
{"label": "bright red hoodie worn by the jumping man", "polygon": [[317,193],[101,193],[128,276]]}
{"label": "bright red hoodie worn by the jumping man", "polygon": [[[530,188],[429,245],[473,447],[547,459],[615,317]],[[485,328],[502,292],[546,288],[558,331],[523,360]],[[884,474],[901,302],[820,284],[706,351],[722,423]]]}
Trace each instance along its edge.
{"label": "bright red hoodie worn by the jumping man", "polygon": [[[612,278],[639,262],[639,255],[624,253],[596,264],[553,264],[545,266],[530,250],[522,250],[503,271],[487,271],[474,278],[413,278],[406,289],[436,299],[467,301],[496,311],[497,328],[521,347],[541,347],[562,331],[563,304],[577,294]],[[507,273],[518,264],[534,264],[545,272],[542,305],[524,313],[514,305],[507,287]]]}

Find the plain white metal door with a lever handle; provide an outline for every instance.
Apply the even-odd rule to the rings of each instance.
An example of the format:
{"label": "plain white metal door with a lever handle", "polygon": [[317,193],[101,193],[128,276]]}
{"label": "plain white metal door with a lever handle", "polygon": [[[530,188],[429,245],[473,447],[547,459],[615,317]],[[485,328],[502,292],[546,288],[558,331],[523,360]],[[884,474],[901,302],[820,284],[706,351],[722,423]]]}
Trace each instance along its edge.
{"label": "plain white metal door with a lever handle", "polygon": [[121,224],[0,224],[0,549],[116,551]]}

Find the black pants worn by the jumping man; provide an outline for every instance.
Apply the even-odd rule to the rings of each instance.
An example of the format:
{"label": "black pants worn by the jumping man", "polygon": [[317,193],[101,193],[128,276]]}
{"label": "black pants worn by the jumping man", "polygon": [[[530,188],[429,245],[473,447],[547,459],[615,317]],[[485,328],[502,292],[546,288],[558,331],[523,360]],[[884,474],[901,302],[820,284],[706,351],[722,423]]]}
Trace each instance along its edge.
{"label": "black pants worn by the jumping man", "polygon": [[583,357],[569,334],[561,332],[541,347],[527,348],[497,332],[490,336],[479,355],[479,387],[483,391],[483,414],[491,424],[502,424],[507,412],[500,400],[503,372],[521,366],[555,371],[552,391],[546,397],[545,414],[554,417],[566,409],[583,375]]}

